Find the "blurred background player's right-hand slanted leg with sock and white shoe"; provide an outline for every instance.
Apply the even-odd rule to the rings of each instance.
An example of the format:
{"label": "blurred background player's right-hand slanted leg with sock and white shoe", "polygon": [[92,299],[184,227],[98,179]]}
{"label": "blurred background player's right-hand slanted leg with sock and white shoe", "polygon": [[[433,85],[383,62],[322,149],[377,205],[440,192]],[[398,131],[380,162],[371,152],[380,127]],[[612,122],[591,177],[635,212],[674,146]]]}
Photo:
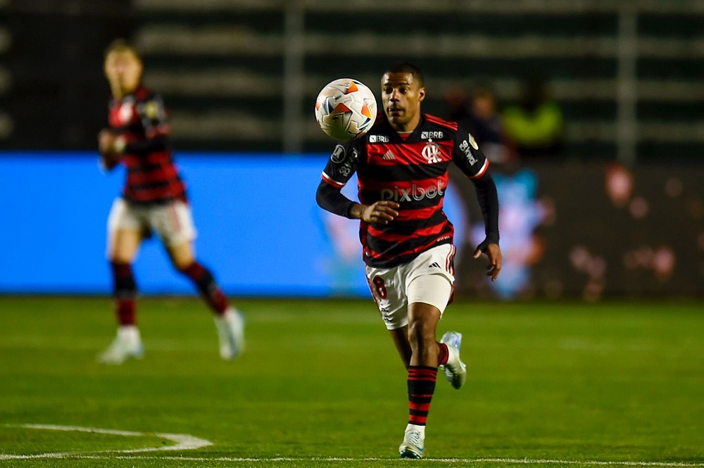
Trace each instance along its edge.
{"label": "blurred background player's right-hand slanted leg with sock and white shoe", "polygon": [[225,294],[215,283],[213,274],[196,261],[190,242],[167,246],[174,267],[191,279],[210,309],[215,313],[215,327],[220,339],[220,357],[230,360],[244,350],[244,317],[227,303]]}

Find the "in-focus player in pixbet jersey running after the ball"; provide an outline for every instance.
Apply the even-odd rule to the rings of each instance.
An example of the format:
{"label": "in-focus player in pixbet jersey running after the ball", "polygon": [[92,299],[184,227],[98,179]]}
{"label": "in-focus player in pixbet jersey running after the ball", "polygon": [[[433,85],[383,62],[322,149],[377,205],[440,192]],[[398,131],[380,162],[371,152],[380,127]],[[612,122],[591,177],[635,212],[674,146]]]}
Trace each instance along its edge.
{"label": "in-focus player in pixbet jersey running after the ball", "polygon": [[[498,196],[489,160],[469,132],[421,113],[423,75],[410,63],[382,77],[383,113],[363,137],[338,144],[318,186],[318,205],[360,220],[365,272],[391,339],[408,369],[408,425],[401,458],[422,458],[425,424],[440,367],[454,388],[465,383],[462,335],[436,327],[454,291],[453,226],[443,211],[452,161],[474,182],[484,214],[492,281],[501,271]],[[341,194],[354,172],[360,203]]]}

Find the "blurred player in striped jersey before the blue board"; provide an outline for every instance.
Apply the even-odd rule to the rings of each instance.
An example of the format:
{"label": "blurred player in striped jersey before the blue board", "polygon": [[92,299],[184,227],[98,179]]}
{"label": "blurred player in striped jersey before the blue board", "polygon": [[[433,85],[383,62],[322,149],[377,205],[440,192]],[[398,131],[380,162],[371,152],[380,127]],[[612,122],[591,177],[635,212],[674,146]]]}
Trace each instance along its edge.
{"label": "blurred player in striped jersey before the blue board", "polygon": [[160,237],[174,267],[194,283],[215,313],[220,356],[230,360],[244,349],[244,320],[228,305],[213,274],[194,257],[196,229],[184,182],[173,162],[161,97],[142,85],[142,59],[122,39],[108,46],[104,68],[113,99],[110,126],[98,136],[101,163],[106,170],[122,163],[127,180],[108,216],[108,258],[118,334],[98,360],[121,364],[142,357],[132,263],[142,240],[152,232]]}

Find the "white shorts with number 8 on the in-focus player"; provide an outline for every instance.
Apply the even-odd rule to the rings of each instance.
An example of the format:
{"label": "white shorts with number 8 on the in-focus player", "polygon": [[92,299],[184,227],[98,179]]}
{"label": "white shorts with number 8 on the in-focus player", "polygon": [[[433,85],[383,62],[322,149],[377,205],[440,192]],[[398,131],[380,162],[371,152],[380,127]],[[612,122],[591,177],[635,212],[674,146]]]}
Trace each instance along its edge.
{"label": "white shorts with number 8 on the in-focus player", "polygon": [[455,246],[443,244],[393,268],[365,267],[367,282],[389,330],[408,325],[408,304],[434,305],[442,317],[455,282]]}

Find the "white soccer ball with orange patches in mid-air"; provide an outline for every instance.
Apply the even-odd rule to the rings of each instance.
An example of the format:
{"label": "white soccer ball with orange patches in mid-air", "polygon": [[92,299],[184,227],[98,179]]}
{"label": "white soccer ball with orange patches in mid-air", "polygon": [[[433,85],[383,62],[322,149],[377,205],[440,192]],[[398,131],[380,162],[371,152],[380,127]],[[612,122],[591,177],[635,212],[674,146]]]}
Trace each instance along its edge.
{"label": "white soccer ball with orange patches in mid-air", "polygon": [[377,118],[377,100],[362,82],[340,78],[325,85],[315,101],[315,120],[322,131],[337,140],[367,133]]}

